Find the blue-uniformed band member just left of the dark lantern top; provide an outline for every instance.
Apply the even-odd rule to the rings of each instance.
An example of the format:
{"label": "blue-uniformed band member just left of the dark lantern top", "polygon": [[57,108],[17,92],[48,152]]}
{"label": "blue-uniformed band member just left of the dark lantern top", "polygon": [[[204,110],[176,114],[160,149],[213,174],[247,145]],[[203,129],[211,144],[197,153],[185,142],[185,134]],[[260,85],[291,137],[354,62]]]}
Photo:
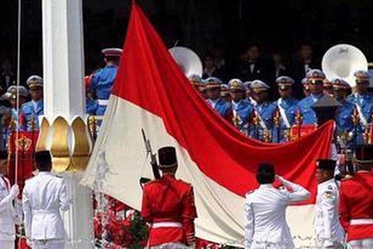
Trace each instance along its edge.
{"label": "blue-uniformed band member just left of the dark lantern top", "polygon": [[316,113],[311,106],[323,96],[325,74],[319,69],[312,69],[306,77],[310,86],[310,95],[299,101],[298,109],[303,117],[303,124],[317,124]]}

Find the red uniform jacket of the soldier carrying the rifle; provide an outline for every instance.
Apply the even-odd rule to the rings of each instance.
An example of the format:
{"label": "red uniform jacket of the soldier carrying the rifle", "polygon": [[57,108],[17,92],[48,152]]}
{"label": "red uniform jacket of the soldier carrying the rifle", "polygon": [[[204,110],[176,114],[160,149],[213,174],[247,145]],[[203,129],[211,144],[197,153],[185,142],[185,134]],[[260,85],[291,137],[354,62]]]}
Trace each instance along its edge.
{"label": "red uniform jacket of the soldier carrying the rifle", "polygon": [[150,228],[148,245],[154,247],[165,243],[195,243],[194,219],[197,213],[194,205],[193,188],[165,175],[149,182],[143,189],[141,215],[149,223],[176,222],[182,227]]}

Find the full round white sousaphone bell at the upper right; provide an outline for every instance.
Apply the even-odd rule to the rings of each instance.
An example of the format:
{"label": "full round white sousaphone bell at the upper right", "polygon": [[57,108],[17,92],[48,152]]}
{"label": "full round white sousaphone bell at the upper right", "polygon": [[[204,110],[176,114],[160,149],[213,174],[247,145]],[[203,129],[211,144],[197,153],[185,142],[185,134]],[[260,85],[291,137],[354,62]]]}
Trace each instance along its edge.
{"label": "full round white sousaphone bell at the upper right", "polygon": [[329,80],[341,78],[351,87],[355,87],[354,73],[368,70],[368,61],[363,52],[349,44],[338,44],[324,54],[321,62],[322,71]]}

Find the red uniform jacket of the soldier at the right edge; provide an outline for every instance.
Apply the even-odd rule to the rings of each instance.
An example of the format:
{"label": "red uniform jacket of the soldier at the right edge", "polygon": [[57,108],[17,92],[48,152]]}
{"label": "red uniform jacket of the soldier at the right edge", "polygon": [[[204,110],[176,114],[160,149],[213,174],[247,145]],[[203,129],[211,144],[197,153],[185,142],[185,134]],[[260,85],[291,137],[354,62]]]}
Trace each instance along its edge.
{"label": "red uniform jacket of the soldier at the right edge", "polygon": [[373,174],[358,171],[343,180],[339,203],[340,220],[347,241],[373,238],[373,224],[350,225],[351,220],[373,219]]}

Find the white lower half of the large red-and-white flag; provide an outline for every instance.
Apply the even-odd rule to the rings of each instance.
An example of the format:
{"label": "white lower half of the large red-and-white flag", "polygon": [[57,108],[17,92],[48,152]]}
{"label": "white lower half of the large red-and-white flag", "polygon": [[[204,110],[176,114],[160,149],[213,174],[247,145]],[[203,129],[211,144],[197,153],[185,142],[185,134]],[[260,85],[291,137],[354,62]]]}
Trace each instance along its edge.
{"label": "white lower half of the large red-and-white flag", "polygon": [[[103,192],[141,210],[139,179],[153,178],[141,128],[146,131],[154,151],[166,145],[176,147],[179,162],[177,177],[194,187],[198,214],[196,236],[217,243],[243,242],[245,199],[204,175],[191,160],[188,151],[166,131],[161,118],[116,96],[110,97],[81,184],[93,188],[98,153],[104,151],[110,172],[104,180]],[[301,238],[294,241],[296,245],[310,246],[310,238],[313,238],[313,205],[289,207],[287,217],[292,235]]]}

